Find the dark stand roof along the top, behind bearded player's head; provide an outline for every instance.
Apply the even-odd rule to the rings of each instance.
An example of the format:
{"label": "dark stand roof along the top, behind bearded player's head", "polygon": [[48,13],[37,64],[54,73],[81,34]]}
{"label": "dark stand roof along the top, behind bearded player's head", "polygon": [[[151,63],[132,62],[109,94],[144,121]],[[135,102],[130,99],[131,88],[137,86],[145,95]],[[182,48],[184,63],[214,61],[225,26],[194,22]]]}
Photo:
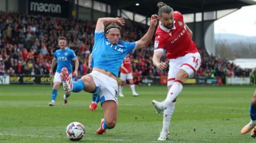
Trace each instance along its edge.
{"label": "dark stand roof along the top, behind bearded player's head", "polygon": [[[98,2],[103,2],[111,6],[117,7],[117,9],[124,9],[127,11],[135,12],[141,15],[150,16],[151,14],[156,14],[158,8],[156,7],[159,0],[95,0]],[[180,11],[183,14],[197,13],[197,12],[207,12],[216,10],[226,10],[226,9],[240,9],[242,6],[256,4],[252,0],[172,0],[172,1],[162,1],[167,5],[173,7],[174,10]],[[139,3],[139,6],[135,4]]]}

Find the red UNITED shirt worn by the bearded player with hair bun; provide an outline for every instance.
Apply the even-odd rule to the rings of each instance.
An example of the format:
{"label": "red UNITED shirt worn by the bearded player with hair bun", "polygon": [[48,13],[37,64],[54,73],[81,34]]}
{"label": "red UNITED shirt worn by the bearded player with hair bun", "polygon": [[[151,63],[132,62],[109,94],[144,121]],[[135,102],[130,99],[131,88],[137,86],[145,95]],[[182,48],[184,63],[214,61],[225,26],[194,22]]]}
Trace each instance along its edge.
{"label": "red UNITED shirt worn by the bearded player with hair bun", "polygon": [[165,49],[167,58],[177,58],[188,53],[196,53],[197,48],[186,30],[183,16],[180,12],[174,11],[174,27],[167,29],[159,24],[155,35],[155,50]]}

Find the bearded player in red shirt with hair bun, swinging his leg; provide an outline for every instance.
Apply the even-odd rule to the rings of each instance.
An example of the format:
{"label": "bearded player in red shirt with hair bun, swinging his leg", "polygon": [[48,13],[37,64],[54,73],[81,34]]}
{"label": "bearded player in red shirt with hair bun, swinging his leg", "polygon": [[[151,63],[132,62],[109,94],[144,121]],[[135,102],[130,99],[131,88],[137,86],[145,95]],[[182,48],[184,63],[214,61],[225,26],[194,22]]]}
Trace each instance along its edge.
{"label": "bearded player in red shirt with hair bun, swinging his leg", "polygon": [[[167,97],[163,102],[153,100],[152,103],[157,113],[164,113],[163,128],[158,140],[166,140],[170,137],[169,124],[175,109],[175,101],[180,94],[184,82],[193,77],[201,65],[201,56],[197,51],[196,44],[191,39],[192,31],[183,21],[183,16],[163,2],[157,4],[159,7],[159,26],[155,35],[155,49],[153,64],[158,70],[167,68],[169,72],[167,79]],[[161,62],[164,49],[168,61]]]}

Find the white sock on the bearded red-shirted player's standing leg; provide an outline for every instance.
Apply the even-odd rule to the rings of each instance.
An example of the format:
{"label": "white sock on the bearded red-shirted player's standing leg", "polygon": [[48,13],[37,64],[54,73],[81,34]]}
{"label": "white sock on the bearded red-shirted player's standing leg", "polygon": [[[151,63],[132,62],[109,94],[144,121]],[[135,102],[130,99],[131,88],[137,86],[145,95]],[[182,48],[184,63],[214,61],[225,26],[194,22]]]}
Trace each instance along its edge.
{"label": "white sock on the bearded red-shirted player's standing leg", "polygon": [[169,132],[169,125],[170,125],[170,121],[171,121],[171,117],[174,112],[174,109],[175,109],[175,102],[172,102],[167,106],[166,110],[164,110],[162,131]]}

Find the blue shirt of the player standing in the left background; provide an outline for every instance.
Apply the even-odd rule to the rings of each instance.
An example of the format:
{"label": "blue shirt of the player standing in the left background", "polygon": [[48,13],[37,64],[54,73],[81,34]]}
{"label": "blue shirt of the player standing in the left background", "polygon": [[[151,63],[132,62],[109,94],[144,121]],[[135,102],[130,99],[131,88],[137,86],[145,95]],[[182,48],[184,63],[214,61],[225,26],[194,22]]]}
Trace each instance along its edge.
{"label": "blue shirt of the player standing in the left background", "polygon": [[72,73],[72,61],[77,58],[73,50],[67,47],[65,48],[64,51],[62,51],[61,49],[58,49],[54,54],[54,58],[57,59],[58,65],[57,65],[56,71],[58,73],[60,73],[63,67],[66,67],[68,69],[69,74]]}

